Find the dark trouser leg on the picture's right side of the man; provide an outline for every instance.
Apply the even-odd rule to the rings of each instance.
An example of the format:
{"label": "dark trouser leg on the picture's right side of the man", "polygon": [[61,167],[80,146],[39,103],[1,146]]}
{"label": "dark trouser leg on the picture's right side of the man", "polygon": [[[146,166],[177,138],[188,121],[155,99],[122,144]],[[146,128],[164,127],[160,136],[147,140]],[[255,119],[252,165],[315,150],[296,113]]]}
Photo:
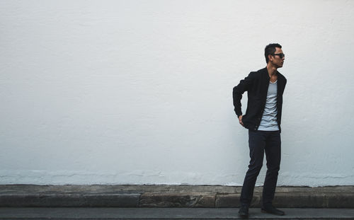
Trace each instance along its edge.
{"label": "dark trouser leg on the picture's right side of the man", "polygon": [[265,141],[265,157],[267,159],[267,173],[263,185],[263,206],[272,204],[275,187],[280,169],[281,139],[280,132],[269,132]]}

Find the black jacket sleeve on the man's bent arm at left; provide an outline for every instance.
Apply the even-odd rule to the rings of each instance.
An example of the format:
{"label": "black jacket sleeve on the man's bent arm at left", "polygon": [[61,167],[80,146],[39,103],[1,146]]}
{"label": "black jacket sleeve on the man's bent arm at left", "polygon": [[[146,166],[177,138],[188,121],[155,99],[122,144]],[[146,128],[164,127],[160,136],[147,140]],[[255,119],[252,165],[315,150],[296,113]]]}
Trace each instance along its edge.
{"label": "black jacket sleeve on the man's bent arm at left", "polygon": [[242,115],[242,110],[241,110],[242,94],[244,94],[245,91],[249,91],[249,88],[251,88],[253,83],[253,78],[254,78],[254,73],[251,72],[249,76],[246,76],[245,79],[242,79],[239,85],[235,86],[232,91],[232,98],[234,99],[234,111],[236,112],[237,117]]}

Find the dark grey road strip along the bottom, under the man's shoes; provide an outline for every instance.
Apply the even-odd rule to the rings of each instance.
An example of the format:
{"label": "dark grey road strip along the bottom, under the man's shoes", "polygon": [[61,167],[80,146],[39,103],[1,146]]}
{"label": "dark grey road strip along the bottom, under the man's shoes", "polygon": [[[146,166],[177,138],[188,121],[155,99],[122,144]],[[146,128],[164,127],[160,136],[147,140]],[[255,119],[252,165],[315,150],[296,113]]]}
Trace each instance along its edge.
{"label": "dark grey road strip along the bottom, under the man's shoes", "polygon": [[[0,219],[239,219],[235,208],[0,208]],[[250,209],[249,219],[354,219],[354,209],[282,209],[285,216]]]}

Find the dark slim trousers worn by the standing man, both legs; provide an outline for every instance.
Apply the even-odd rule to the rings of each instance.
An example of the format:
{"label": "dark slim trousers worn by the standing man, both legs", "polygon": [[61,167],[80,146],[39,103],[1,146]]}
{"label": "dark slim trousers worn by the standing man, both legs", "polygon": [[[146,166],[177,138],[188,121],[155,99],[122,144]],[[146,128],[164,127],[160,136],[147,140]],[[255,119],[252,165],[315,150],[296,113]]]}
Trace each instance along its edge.
{"label": "dark slim trousers worn by the standing man, both legs", "polygon": [[281,157],[280,132],[249,130],[249,170],[241,190],[241,204],[250,206],[254,186],[263,165],[264,152],[267,159],[267,173],[263,185],[263,206],[272,204],[278,180]]}

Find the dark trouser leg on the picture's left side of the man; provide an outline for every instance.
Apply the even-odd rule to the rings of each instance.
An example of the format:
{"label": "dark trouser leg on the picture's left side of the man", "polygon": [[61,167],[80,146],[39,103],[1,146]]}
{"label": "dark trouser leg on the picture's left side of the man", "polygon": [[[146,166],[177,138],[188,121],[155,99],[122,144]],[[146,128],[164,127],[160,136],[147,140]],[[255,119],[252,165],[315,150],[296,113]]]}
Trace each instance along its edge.
{"label": "dark trouser leg on the picture's left side of the man", "polygon": [[257,176],[263,165],[265,148],[265,135],[261,131],[249,131],[249,170],[244,178],[244,185],[241,190],[241,204],[250,205],[253,197],[254,186]]}

